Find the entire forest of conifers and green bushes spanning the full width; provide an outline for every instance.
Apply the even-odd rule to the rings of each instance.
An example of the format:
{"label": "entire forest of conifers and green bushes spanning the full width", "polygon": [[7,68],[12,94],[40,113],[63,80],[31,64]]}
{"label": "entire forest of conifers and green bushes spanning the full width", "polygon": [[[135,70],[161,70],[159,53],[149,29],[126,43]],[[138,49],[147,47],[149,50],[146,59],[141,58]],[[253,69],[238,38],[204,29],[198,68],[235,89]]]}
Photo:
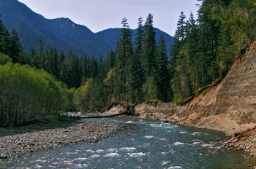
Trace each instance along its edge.
{"label": "entire forest of conifers and green bushes spanning the full width", "polygon": [[156,41],[153,15],[138,19],[132,41],[121,20],[116,50],[99,60],[69,50],[45,50],[43,42],[23,52],[18,34],[0,20],[0,127],[23,125],[61,111],[99,111],[110,103],[182,103],[220,82],[236,54],[255,39],[255,0],[199,0],[197,19],[178,17],[170,56]]}

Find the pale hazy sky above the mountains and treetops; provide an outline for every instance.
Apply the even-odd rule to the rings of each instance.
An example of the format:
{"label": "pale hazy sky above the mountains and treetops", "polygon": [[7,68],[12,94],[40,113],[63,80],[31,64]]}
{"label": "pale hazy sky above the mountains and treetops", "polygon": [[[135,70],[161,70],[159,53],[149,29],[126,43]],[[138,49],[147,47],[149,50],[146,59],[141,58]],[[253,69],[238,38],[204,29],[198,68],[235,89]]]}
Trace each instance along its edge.
{"label": "pale hazy sky above the mountains and treetops", "polygon": [[120,28],[127,17],[130,28],[137,28],[138,18],[154,17],[154,27],[174,35],[181,11],[189,17],[197,14],[197,0],[18,0],[48,19],[69,17],[97,32]]}

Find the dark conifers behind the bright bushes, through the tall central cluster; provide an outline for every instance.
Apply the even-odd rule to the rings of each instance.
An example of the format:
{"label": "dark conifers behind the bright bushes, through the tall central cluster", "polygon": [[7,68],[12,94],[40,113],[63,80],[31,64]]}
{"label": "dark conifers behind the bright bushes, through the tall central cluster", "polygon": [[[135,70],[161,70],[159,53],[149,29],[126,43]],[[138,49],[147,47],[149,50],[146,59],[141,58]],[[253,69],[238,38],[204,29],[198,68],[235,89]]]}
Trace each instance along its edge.
{"label": "dark conifers behind the bright bushes, through the tall central cluster", "polygon": [[78,88],[72,103],[80,111],[102,109],[112,102],[171,101],[165,39],[161,36],[156,42],[153,16],[149,14],[144,25],[139,18],[135,42],[127,19],[121,24],[116,52],[110,51],[106,60],[86,55],[78,58],[71,50],[67,54],[58,53],[55,48],[44,50],[41,41],[37,49],[20,52],[15,60],[44,69],[57,81]]}

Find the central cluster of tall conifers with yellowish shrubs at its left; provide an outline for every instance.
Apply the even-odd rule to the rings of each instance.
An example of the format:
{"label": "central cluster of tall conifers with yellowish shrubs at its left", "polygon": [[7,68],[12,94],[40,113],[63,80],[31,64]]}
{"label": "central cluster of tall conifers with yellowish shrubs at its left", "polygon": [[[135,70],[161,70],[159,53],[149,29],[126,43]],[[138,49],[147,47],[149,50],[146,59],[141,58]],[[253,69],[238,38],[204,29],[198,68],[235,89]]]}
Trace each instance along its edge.
{"label": "central cluster of tall conifers with yellowish shrubs at its left", "polygon": [[[111,51],[101,71],[89,78],[74,95],[82,111],[100,109],[109,103],[142,103],[159,99],[171,101],[170,71],[165,39],[156,42],[153,16],[138,20],[135,42],[124,18],[116,52]],[[99,64],[100,65],[100,64]]]}

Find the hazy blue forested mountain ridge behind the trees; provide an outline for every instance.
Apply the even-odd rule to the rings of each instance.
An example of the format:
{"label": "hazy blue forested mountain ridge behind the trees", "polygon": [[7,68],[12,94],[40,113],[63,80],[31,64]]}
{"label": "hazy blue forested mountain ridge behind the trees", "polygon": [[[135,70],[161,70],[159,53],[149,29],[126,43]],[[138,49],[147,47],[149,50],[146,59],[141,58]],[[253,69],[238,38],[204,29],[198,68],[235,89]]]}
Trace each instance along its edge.
{"label": "hazy blue forested mountain ridge behind the trees", "polygon": [[[115,49],[119,39],[119,28],[94,34],[86,26],[78,25],[69,18],[46,19],[18,0],[1,0],[0,15],[8,31],[15,28],[25,52],[38,47],[39,40],[42,40],[45,49],[56,47],[64,52],[71,49],[78,56],[86,54],[105,58],[111,49]],[[132,30],[132,33],[135,34],[135,30]],[[170,47],[173,38],[157,28],[156,33],[157,39],[164,34],[167,47]],[[168,49],[167,52],[169,51]]]}

